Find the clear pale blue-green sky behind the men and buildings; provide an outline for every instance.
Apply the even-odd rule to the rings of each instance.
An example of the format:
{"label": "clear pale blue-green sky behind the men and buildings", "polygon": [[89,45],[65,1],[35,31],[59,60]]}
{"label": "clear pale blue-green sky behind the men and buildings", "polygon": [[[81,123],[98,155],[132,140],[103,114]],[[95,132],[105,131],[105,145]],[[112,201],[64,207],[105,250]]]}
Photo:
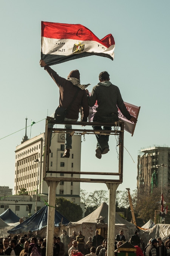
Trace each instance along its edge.
{"label": "clear pale blue-green sky behind the men and buildings", "polygon": [[[52,114],[59,104],[59,89],[39,66],[41,21],[82,24],[99,39],[111,33],[114,60],[91,56],[52,68],[62,77],[79,69],[81,84],[98,83],[108,71],[124,101],[141,106],[134,136],[125,132],[124,181],[119,190],[136,188],[138,150],[169,145],[170,107],[170,1],[163,0],[1,0],[0,1],[0,138]],[[30,128],[27,130],[30,135]],[[45,120],[32,126],[31,137],[45,131]],[[0,140],[0,185],[14,188],[15,147],[25,130]],[[110,152],[95,157],[96,138],[82,138],[81,171],[117,171],[116,140],[110,136]],[[167,163],[165,163],[167,164]],[[105,184],[81,183],[88,192]]]}

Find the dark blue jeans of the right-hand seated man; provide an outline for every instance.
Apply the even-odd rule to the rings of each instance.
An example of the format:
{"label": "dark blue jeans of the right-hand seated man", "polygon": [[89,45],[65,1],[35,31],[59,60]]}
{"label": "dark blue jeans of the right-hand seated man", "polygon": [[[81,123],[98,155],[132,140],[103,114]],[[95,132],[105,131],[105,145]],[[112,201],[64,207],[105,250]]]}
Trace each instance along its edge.
{"label": "dark blue jeans of the right-hand seated man", "polygon": [[[99,115],[93,117],[93,122],[99,122],[99,123],[114,123],[116,121],[119,121],[117,114],[109,114],[109,115]],[[111,126],[92,126],[93,130],[107,130],[111,131]],[[102,151],[105,149],[105,147],[109,147],[108,141],[109,141],[109,135],[98,135],[96,134],[97,139],[97,148],[100,148]]]}

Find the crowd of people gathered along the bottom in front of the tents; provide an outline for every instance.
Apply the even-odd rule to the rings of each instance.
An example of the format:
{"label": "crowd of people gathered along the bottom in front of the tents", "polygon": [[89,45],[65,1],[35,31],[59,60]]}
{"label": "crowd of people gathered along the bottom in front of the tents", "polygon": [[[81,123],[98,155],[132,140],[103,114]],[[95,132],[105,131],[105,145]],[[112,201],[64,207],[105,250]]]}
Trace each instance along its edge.
{"label": "crowd of people gathered along the bottom in front of the tents", "polygon": [[[121,230],[116,235],[114,245],[114,256],[119,253],[119,247],[126,242],[124,231]],[[147,246],[139,237],[138,231],[135,231],[129,242],[136,248],[136,256],[170,256],[170,237],[165,244],[161,237],[150,239]],[[40,238],[39,231],[32,234],[14,235],[0,239],[0,255],[8,256],[46,256],[46,238]],[[60,237],[54,236],[53,256],[107,256],[107,239],[99,235],[96,230],[95,235],[88,238],[85,242],[85,236],[82,231],[76,234],[68,235],[66,230],[62,230]]]}

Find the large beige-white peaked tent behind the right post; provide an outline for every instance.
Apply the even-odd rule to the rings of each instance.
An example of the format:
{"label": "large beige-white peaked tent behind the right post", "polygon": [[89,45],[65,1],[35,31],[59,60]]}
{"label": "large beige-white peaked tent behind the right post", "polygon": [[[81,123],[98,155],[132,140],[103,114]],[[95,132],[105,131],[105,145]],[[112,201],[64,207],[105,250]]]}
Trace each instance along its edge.
{"label": "large beige-white peaked tent behind the right post", "polygon": [[[81,230],[82,234],[85,235],[85,242],[88,241],[88,237],[95,235],[96,229],[99,230],[104,238],[107,237],[108,228],[108,205],[102,203],[94,212],[79,220],[77,222],[70,222],[67,226],[69,228],[69,234],[71,235],[73,231],[76,234]],[[127,241],[129,241],[131,235],[136,231],[136,226],[127,220],[124,220],[119,214],[116,213],[115,219],[115,235],[119,234],[119,231],[123,230]]]}

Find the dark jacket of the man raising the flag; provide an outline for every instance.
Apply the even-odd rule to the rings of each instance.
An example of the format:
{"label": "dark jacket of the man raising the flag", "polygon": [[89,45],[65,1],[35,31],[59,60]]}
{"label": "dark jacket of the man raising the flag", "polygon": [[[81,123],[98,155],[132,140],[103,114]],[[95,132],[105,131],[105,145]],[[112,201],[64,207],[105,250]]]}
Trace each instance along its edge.
{"label": "dark jacket of the man raising the flag", "polygon": [[54,82],[56,82],[57,86],[59,87],[59,90],[60,90],[59,106],[60,107],[62,106],[65,109],[67,109],[67,107],[70,105],[71,101],[73,100],[74,95],[76,94],[76,91],[79,90],[71,107],[68,109],[66,113],[66,118],[78,119],[79,108],[80,106],[82,106],[82,112],[83,112],[82,121],[86,122],[89,115],[89,106],[88,106],[86,91],[81,90],[79,87],[73,85],[67,79],[60,77],[56,73],[56,71],[52,70],[52,68],[50,68],[49,66],[45,66],[44,69],[48,72],[48,74],[53,78]]}

